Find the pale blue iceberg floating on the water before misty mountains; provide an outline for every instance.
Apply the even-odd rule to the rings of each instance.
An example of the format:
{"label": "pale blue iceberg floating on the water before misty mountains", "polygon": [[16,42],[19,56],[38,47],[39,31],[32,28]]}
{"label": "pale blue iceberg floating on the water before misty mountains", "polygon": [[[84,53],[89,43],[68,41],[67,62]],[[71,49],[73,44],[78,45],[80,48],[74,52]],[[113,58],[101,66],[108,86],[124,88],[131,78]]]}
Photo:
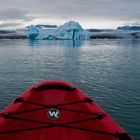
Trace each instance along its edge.
{"label": "pale blue iceberg floating on the water before misty mountains", "polygon": [[28,38],[32,40],[86,40],[91,33],[84,30],[78,22],[69,21],[57,29],[47,31],[33,25],[29,26]]}

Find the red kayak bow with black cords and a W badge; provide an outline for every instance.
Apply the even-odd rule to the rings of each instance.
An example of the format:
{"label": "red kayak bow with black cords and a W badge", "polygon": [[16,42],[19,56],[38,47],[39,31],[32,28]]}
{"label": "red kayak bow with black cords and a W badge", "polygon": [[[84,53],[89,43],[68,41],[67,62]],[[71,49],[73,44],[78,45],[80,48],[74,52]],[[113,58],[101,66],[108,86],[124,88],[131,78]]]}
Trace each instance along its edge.
{"label": "red kayak bow with black cords and a W badge", "polygon": [[0,113],[0,140],[133,140],[99,105],[65,81],[43,81]]}

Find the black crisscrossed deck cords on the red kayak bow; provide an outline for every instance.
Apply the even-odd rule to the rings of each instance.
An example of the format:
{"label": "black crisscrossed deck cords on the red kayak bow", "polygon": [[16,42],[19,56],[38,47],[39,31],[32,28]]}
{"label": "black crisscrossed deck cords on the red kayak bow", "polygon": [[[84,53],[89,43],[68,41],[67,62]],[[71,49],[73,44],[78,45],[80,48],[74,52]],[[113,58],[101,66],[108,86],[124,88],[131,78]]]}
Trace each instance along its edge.
{"label": "black crisscrossed deck cords on the red kayak bow", "polygon": [[[39,89],[39,90],[41,90],[41,89]],[[34,130],[38,130],[38,129],[47,129],[47,128],[52,128],[52,127],[58,127],[59,126],[59,127],[69,128],[69,129],[76,129],[76,130],[81,130],[81,131],[98,133],[98,134],[102,134],[102,135],[110,135],[110,136],[113,136],[113,137],[117,137],[118,140],[131,140],[131,138],[128,136],[127,133],[117,133],[117,132],[116,133],[111,133],[111,132],[99,131],[99,130],[94,130],[94,129],[71,126],[72,124],[78,124],[78,123],[87,122],[87,121],[91,121],[91,120],[103,119],[103,117],[104,117],[103,114],[93,113],[93,112],[83,112],[83,111],[79,111],[79,110],[63,108],[63,106],[85,103],[85,102],[91,103],[91,102],[93,102],[93,100],[88,98],[88,99],[85,99],[85,100],[79,100],[79,101],[74,101],[74,102],[70,102],[70,103],[48,106],[48,105],[44,105],[44,104],[35,103],[35,102],[32,102],[32,101],[27,101],[27,100],[24,100],[23,98],[19,97],[14,101],[14,103],[31,104],[31,105],[39,106],[39,108],[34,108],[34,109],[29,109],[29,110],[24,110],[24,111],[18,111],[18,112],[10,112],[10,113],[7,112],[7,113],[3,114],[3,117],[5,119],[13,119],[13,120],[33,122],[33,123],[45,124],[45,125],[40,126],[40,127],[35,127],[35,128],[24,128],[24,129],[18,129],[18,130],[1,131],[0,135],[1,134],[10,134],[10,133],[19,133],[19,132],[25,132],[25,131],[34,131]],[[33,111],[43,110],[43,109],[46,109],[46,108],[57,108],[57,109],[65,110],[65,111],[69,111],[69,112],[92,115],[92,117],[89,117],[88,119],[82,119],[82,120],[77,120],[77,121],[72,121],[72,122],[65,122],[65,123],[61,123],[61,124],[56,124],[56,123],[50,123],[50,122],[43,122],[43,121],[38,121],[38,120],[20,118],[20,117],[16,116],[16,114],[33,112]]]}

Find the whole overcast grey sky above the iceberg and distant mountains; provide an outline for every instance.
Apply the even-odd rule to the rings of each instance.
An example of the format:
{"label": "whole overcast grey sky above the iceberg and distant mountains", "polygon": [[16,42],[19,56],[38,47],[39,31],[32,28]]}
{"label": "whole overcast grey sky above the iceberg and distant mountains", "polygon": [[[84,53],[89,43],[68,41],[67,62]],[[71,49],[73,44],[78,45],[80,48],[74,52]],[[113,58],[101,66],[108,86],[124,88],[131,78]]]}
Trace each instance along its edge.
{"label": "whole overcast grey sky above the iceberg and distant mountains", "polygon": [[140,0],[0,0],[0,29],[30,24],[116,28],[140,23]]}

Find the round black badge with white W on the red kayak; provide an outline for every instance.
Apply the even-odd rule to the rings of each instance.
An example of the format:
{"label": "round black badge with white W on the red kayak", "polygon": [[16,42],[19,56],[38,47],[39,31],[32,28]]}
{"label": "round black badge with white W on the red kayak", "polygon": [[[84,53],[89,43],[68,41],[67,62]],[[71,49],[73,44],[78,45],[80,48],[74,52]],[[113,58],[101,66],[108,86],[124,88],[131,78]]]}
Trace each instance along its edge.
{"label": "round black badge with white W on the red kayak", "polygon": [[48,111],[48,117],[49,117],[50,119],[58,119],[59,116],[60,116],[60,112],[59,112],[58,109],[53,108],[53,109],[50,109],[50,110]]}

